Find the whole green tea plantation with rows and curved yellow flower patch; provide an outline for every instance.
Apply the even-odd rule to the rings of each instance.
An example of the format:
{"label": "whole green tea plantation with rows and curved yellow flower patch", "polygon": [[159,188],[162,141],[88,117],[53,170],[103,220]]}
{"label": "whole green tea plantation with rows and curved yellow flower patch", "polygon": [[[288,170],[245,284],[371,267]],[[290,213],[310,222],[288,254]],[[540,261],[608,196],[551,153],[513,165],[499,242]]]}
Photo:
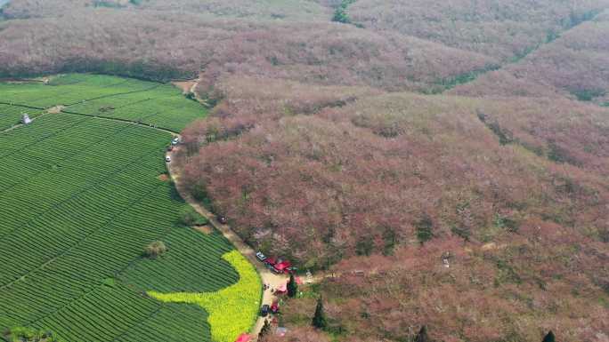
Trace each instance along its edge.
{"label": "whole green tea plantation with rows and curved yellow flower patch", "polygon": [[[203,107],[170,85],[87,75],[0,84],[0,102],[0,333],[231,342],[237,332],[223,324],[251,326],[255,269],[219,233],[180,227],[187,204],[158,177],[172,135],[148,125],[180,131]],[[64,112],[48,112],[58,105]],[[4,131],[26,109],[34,122]],[[166,253],[142,257],[154,241]],[[245,314],[233,322],[218,303],[157,299],[186,292]]]}

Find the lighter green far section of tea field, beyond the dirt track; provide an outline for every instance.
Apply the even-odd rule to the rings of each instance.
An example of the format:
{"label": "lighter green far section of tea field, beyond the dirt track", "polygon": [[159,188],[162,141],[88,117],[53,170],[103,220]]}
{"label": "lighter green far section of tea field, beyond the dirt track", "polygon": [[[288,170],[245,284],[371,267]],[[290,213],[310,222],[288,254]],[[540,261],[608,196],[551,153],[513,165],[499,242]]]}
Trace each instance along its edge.
{"label": "lighter green far section of tea field, beyond the dirt track", "polygon": [[185,99],[173,85],[111,76],[73,74],[47,83],[0,84],[0,95],[0,130],[4,116],[12,119],[4,123],[5,129],[19,121],[20,113],[32,116],[55,106],[66,113],[146,123],[169,131],[181,131],[202,113],[199,103]]}

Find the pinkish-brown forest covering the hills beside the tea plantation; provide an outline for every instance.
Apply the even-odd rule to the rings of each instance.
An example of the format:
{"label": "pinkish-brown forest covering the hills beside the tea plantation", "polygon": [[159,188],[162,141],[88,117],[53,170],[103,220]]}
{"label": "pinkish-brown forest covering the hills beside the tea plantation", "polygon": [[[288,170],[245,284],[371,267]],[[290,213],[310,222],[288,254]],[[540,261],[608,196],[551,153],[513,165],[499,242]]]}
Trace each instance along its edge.
{"label": "pinkish-brown forest covering the hills beside the tea plantation", "polygon": [[[191,193],[337,277],[294,341],[609,339],[609,1],[12,0],[0,77],[197,79]],[[449,252],[450,267],[442,256]],[[270,337],[269,341],[285,340]]]}

